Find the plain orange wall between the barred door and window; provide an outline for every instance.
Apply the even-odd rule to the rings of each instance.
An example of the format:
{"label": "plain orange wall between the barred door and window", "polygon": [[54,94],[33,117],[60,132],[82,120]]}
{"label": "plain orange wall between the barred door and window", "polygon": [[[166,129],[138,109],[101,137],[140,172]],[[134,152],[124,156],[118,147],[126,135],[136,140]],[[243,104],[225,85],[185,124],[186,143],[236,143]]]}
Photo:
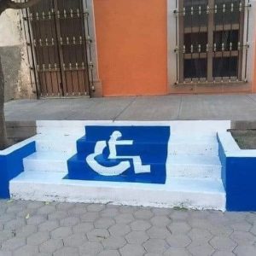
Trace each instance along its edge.
{"label": "plain orange wall between the barred door and window", "polygon": [[166,0],[94,0],[104,96],[167,93]]}

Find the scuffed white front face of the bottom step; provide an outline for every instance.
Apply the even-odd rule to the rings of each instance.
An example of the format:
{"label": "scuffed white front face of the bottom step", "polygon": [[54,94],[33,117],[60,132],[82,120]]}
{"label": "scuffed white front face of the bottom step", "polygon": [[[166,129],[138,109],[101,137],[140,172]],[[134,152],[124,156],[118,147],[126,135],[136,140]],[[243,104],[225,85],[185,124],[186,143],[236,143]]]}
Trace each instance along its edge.
{"label": "scuffed white front face of the bottom step", "polygon": [[73,186],[68,184],[11,182],[10,190],[16,200],[68,201],[109,203],[143,207],[185,207],[224,211],[223,194],[166,191],[161,189],[133,189],[116,187],[102,189],[101,185]]}

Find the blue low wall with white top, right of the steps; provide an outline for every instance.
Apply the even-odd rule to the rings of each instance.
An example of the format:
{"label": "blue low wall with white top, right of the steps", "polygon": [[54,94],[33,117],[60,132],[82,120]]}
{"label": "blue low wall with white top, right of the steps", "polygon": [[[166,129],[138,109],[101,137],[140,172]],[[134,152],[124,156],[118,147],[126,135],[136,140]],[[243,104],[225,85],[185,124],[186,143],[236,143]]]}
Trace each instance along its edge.
{"label": "blue low wall with white top, right of the steps", "polygon": [[230,132],[218,132],[227,211],[256,211],[256,150],[240,149]]}

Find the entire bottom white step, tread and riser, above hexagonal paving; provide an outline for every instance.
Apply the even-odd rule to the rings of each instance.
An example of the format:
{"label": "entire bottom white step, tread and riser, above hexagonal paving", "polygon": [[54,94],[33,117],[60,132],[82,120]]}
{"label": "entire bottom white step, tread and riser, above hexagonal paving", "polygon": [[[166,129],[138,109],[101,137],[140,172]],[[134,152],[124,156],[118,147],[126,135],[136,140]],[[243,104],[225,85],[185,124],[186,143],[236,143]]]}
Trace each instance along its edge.
{"label": "entire bottom white step, tread and riser, above hexagonal paving", "polygon": [[220,181],[172,177],[166,184],[113,183],[62,179],[58,172],[23,172],[10,182],[14,199],[77,201],[144,207],[187,207],[224,211]]}

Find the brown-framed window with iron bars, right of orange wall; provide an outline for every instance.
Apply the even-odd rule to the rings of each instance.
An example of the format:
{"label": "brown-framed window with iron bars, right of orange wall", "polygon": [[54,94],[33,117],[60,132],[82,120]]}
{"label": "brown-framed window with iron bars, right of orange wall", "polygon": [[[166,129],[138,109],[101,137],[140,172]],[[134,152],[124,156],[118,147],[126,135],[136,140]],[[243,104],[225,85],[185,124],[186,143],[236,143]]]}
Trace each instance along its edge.
{"label": "brown-framed window with iron bars, right of orange wall", "polygon": [[178,84],[242,80],[244,10],[245,0],[179,0]]}

